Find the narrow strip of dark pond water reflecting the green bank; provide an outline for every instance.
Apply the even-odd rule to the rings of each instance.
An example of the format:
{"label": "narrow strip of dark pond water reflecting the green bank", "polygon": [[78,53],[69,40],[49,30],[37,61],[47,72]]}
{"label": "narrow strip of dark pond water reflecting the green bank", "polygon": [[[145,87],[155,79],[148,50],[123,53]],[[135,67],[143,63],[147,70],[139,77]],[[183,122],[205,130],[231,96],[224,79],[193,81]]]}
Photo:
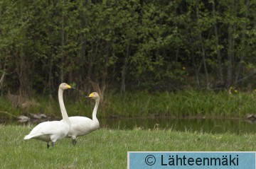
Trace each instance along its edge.
{"label": "narrow strip of dark pond water reflecting the green bank", "polygon": [[[45,120],[48,121],[48,120]],[[2,124],[38,124],[42,121],[19,122],[18,120],[0,121]],[[256,123],[246,119],[221,118],[122,118],[101,119],[101,128],[107,129],[172,129],[207,133],[256,133]]]}

